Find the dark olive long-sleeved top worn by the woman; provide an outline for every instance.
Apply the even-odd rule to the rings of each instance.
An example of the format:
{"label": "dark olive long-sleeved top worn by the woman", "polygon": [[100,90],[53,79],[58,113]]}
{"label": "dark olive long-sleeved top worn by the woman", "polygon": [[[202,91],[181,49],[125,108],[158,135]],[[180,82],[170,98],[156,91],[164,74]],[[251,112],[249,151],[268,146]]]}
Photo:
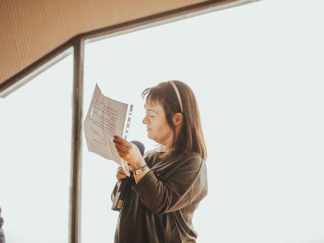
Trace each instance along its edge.
{"label": "dark olive long-sleeved top worn by the woman", "polygon": [[[134,178],[119,211],[115,243],[196,242],[192,217],[207,195],[207,168],[196,152],[160,159],[155,150],[144,154],[150,168]],[[111,199],[117,191],[117,183]]]}

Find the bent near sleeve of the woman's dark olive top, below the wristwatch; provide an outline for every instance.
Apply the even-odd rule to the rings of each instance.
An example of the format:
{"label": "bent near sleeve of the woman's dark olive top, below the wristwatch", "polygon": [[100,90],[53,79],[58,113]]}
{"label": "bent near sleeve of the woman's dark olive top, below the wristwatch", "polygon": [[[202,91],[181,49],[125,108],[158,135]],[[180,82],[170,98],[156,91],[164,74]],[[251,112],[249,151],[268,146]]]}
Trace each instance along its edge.
{"label": "bent near sleeve of the woman's dark olive top, below the wristwatch", "polygon": [[207,173],[204,163],[201,157],[190,157],[164,181],[157,179],[149,170],[132,189],[154,214],[179,210],[206,194]]}

